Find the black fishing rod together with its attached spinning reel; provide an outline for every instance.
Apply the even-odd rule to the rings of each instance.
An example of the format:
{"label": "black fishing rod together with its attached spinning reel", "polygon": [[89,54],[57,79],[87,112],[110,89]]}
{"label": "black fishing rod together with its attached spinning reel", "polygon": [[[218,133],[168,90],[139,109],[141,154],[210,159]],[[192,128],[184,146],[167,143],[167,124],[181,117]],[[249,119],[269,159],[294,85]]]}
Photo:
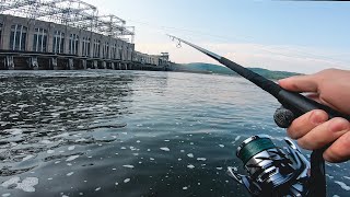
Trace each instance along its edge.
{"label": "black fishing rod together with its attached spinning reel", "polygon": [[[265,90],[272,96],[275,96],[281,104],[282,107],[277,109],[273,118],[278,126],[287,128],[291,123],[299,116],[311,112],[313,109],[323,109],[328,114],[328,118],[343,117],[350,120],[350,116],[343,115],[328,106],[317,103],[302,94],[290,92],[282,89],[280,85],[271,80],[253,72],[243,66],[231,61],[218,54],[209,51],[202,47],[188,43],[182,38],[173,35],[168,35],[173,40],[178,40],[178,45],[182,43],[206,54],[212,59],[218,60],[223,66],[235,71],[243,78],[249,80],[260,89]],[[245,140],[237,149],[237,157],[243,160],[248,172],[254,176],[259,176],[259,181],[254,181],[252,177],[236,174],[229,169],[230,174],[238,182],[244,184],[252,195],[264,196],[266,194],[270,196],[292,195],[292,196],[326,196],[326,176],[325,176],[325,161],[323,153],[326,148],[313,151],[311,155],[311,165],[308,161],[302,155],[298,146],[291,140],[285,139],[289,148],[283,152],[277,148],[268,137],[266,136],[254,136]],[[284,157],[283,157],[284,154]],[[289,157],[288,157],[289,155]],[[271,160],[271,158],[275,158]],[[277,158],[277,159],[276,159]],[[271,162],[266,162],[270,160]],[[282,165],[287,164],[293,169],[294,173],[281,174],[279,177],[272,177],[276,169],[271,169],[272,165],[280,166],[279,170],[283,170]],[[281,165],[282,164],[282,165]],[[276,167],[276,166],[275,166]],[[311,169],[310,169],[311,167]],[[260,169],[260,170],[257,170]],[[261,170],[262,169],[262,170]],[[264,171],[265,169],[265,171]],[[289,170],[291,170],[289,169]],[[266,172],[267,170],[271,172]],[[275,170],[275,171],[273,171]],[[285,167],[284,167],[285,170]],[[289,172],[289,170],[285,170]],[[311,175],[305,170],[311,170]],[[285,173],[285,172],[284,172]],[[277,173],[278,174],[278,173]],[[276,173],[275,173],[276,175]],[[270,178],[266,178],[270,176]],[[295,177],[298,176],[298,177]],[[262,183],[261,178],[265,177],[266,182]],[[257,178],[257,177],[255,177]],[[295,182],[295,183],[292,183]],[[264,187],[264,188],[262,188]],[[307,188],[306,188],[307,187]],[[278,189],[277,189],[278,188]],[[301,188],[301,189],[300,189]],[[264,189],[276,189],[273,194],[266,193]],[[287,192],[283,192],[287,190]]]}

